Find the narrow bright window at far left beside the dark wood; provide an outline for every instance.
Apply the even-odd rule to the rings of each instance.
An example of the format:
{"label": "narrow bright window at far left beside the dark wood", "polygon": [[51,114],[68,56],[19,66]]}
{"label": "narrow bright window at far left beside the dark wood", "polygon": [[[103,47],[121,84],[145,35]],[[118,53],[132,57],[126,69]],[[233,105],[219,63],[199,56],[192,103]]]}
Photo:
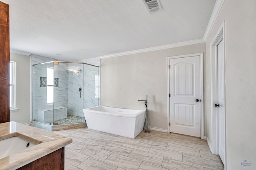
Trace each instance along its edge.
{"label": "narrow bright window at far left beside the dark wood", "polygon": [[9,63],[9,95],[10,95],[10,109],[15,109],[15,62]]}

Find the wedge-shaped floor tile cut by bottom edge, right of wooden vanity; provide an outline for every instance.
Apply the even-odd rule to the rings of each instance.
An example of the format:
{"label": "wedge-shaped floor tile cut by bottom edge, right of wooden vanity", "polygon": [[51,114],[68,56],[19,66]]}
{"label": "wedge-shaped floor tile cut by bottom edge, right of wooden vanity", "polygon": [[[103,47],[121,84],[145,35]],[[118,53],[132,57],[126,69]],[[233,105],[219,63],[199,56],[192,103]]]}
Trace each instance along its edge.
{"label": "wedge-shaped floor tile cut by bottom edge, right of wooden vanity", "polygon": [[[108,164],[98,159],[88,158],[86,161],[82,162],[78,168],[82,170],[116,170],[117,166]],[[66,167],[65,167],[66,169]]]}

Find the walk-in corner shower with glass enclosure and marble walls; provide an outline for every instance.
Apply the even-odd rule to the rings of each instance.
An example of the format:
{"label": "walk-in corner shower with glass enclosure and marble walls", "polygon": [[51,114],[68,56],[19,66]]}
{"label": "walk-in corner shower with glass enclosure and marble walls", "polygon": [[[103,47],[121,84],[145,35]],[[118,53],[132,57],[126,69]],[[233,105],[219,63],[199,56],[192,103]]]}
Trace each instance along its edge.
{"label": "walk-in corner shower with glass enclosure and marble walls", "polygon": [[34,64],[32,121],[85,122],[82,109],[99,106],[99,86],[98,66],[64,61]]}

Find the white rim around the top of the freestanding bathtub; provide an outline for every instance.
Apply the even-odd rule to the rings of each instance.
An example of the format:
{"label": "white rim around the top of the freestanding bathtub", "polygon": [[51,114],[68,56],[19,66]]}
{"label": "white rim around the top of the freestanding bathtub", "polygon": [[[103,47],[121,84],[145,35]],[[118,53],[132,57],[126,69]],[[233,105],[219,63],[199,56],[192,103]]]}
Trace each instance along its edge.
{"label": "white rim around the top of the freestanding bathtub", "polygon": [[146,109],[127,109],[127,110],[139,110],[138,112],[136,112],[135,114],[132,115],[119,115],[116,113],[110,113],[110,112],[105,112],[105,111],[97,111],[97,110],[92,110],[92,108],[96,108],[96,107],[108,107],[108,108],[115,108],[115,109],[127,109],[127,108],[120,108],[120,107],[110,107],[110,106],[104,106],[104,105],[100,105],[100,106],[95,106],[95,107],[90,107],[90,108],[86,108],[83,109],[83,111],[88,111],[91,113],[96,113],[96,114],[104,114],[104,115],[111,115],[111,116],[118,116],[118,117],[138,117],[140,114],[144,113],[146,111]]}

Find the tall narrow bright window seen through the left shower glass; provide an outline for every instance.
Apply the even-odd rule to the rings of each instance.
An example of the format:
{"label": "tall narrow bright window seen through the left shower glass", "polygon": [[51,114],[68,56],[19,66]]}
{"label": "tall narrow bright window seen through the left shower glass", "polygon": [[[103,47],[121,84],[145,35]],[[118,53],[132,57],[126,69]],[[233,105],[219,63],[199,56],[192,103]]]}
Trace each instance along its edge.
{"label": "tall narrow bright window seen through the left shower glass", "polygon": [[54,69],[52,67],[46,68],[46,84],[47,84],[47,97],[46,103],[53,104],[53,87],[54,87]]}

